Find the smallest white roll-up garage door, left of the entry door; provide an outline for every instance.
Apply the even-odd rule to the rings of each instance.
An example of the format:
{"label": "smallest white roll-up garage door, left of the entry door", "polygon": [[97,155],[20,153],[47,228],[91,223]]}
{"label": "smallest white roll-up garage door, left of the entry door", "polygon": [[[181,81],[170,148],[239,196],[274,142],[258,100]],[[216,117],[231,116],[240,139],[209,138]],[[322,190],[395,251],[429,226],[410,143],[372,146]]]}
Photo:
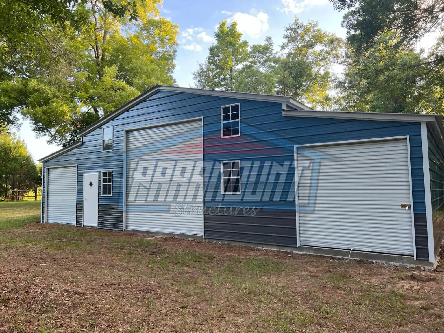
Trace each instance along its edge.
{"label": "smallest white roll-up garage door, left of the entry door", "polygon": [[47,222],[75,224],[77,168],[48,169]]}

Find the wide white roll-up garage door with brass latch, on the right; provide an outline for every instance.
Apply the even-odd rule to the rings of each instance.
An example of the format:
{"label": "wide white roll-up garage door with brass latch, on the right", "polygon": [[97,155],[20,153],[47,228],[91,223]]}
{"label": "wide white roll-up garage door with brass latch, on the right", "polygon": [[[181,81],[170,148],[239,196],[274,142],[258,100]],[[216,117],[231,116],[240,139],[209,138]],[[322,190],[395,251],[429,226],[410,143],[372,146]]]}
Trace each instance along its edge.
{"label": "wide white roll-up garage door with brass latch, on the right", "polygon": [[300,244],[413,255],[407,140],[297,147]]}

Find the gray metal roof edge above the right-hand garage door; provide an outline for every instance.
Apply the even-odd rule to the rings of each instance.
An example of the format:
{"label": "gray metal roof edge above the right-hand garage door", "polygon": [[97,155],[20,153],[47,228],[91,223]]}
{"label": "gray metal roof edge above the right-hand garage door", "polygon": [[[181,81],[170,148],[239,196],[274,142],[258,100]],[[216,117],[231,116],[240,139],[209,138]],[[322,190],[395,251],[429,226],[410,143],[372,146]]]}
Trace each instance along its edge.
{"label": "gray metal roof edge above the right-hand garage door", "polygon": [[287,117],[321,117],[339,119],[363,119],[383,121],[421,122],[436,121],[439,115],[420,115],[415,113],[382,113],[382,112],[353,112],[353,111],[306,111],[306,110],[282,110],[282,115]]}

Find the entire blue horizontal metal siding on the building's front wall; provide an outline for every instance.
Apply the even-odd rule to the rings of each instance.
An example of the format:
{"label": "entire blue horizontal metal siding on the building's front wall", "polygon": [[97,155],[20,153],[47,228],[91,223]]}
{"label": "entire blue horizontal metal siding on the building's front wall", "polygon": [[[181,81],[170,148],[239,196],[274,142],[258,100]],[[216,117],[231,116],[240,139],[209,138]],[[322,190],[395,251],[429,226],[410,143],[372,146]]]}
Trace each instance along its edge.
{"label": "entire blue horizontal metal siding on the building's front wall", "polygon": [[[220,107],[232,103],[240,103],[241,136],[221,139]],[[206,179],[205,206],[211,207],[216,204],[227,206],[256,205],[266,210],[294,211],[294,145],[410,135],[414,210],[415,213],[425,213],[419,123],[283,117],[281,107],[281,103],[161,91],[103,126],[114,127],[113,151],[101,151],[102,129],[98,128],[83,137],[83,145],[81,147],[77,147],[72,151],[48,161],[45,163],[45,166],[47,164],[48,166],[73,164],[79,166],[78,203],[81,203],[83,196],[84,172],[112,170],[113,195],[112,197],[99,197],[99,205],[103,207],[102,215],[106,219],[106,205],[113,207],[114,212],[116,211],[115,207],[117,207],[117,211],[123,210],[124,130],[203,117],[205,175],[209,177],[208,172],[210,170],[214,173],[214,178],[212,178],[211,181]],[[265,182],[271,182],[270,187],[266,187],[264,194],[261,194],[262,202],[258,202],[256,199],[248,201],[249,199],[246,194],[242,194],[242,202],[237,199],[233,200],[233,197],[220,194],[220,162],[225,160],[241,160],[241,164],[249,168],[252,167],[254,163],[262,163],[261,172],[265,172],[264,170],[267,170],[267,167],[269,167],[267,161],[273,160],[274,163],[276,163],[276,165],[273,166],[275,168],[274,173],[271,176],[266,175],[266,177],[272,177],[270,179],[262,179],[262,175],[258,174],[259,172],[256,172],[257,174],[250,174],[250,177],[254,177],[254,180],[247,179],[245,176],[247,175],[248,177],[249,171],[244,170],[244,172],[246,172],[246,174],[242,176],[242,187],[244,189],[249,189],[247,182],[256,183],[256,185],[253,184],[255,188],[255,190],[252,188],[253,192],[261,189],[262,186],[265,185]],[[217,178],[218,173],[219,178]],[[279,175],[277,176],[277,174]],[[273,182],[277,182],[279,186],[273,185]],[[210,187],[212,187],[211,190],[209,190]],[[214,194],[214,190],[216,190],[218,194]],[[257,198],[257,194],[250,193],[249,195],[255,195]],[[267,200],[263,200],[263,198],[267,198]],[[119,219],[120,215],[116,213],[110,215],[112,215],[113,218],[112,221],[110,220],[109,222],[113,223],[113,228],[115,228],[116,218]],[[279,220],[284,221],[284,219],[279,218],[279,216],[280,214],[276,214],[276,218],[272,224],[275,223],[279,225]],[[242,223],[239,222],[241,218],[242,217],[238,217],[236,220],[237,228],[240,228],[242,225]],[[221,221],[223,222],[223,218],[221,217],[214,218],[214,220],[215,221],[208,221],[213,223],[213,225]],[[248,221],[244,226],[246,233],[251,232],[254,234],[254,226],[251,225],[251,218],[249,218]],[[102,222],[104,222],[104,227],[107,226],[107,221]],[[282,222],[281,229],[283,230],[288,223],[288,216],[285,215],[285,221]],[[226,230],[227,225],[220,227]],[[222,230],[221,228],[218,230]],[[261,228],[263,231],[263,226],[261,226]],[[205,233],[206,237],[209,237],[207,229]],[[216,231],[214,231],[214,234],[216,234]],[[247,235],[244,233],[242,235],[242,233],[238,233],[238,236],[232,235],[232,238],[243,237],[243,239],[249,239],[250,241],[258,239],[265,242],[264,239],[266,235],[259,232],[257,236],[252,234]],[[218,238],[223,238],[223,232],[218,232],[217,235]],[[278,237],[278,235],[276,237]],[[289,241],[290,240],[288,240],[288,242]],[[293,242],[293,240],[291,241]],[[279,243],[279,240],[275,238],[272,242]],[[287,241],[280,243],[285,242]]]}

